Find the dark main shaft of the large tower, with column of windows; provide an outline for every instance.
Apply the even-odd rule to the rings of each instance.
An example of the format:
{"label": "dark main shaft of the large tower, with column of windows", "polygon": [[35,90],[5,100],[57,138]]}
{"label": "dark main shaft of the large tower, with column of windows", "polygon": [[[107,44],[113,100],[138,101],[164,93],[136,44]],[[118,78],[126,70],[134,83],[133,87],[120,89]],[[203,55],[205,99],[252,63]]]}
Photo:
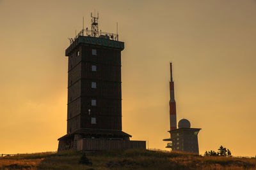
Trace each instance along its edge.
{"label": "dark main shaft of the large tower, with column of windows", "polygon": [[122,131],[122,50],[123,42],[86,36],[77,38],[76,49],[66,50],[67,134],[81,128]]}

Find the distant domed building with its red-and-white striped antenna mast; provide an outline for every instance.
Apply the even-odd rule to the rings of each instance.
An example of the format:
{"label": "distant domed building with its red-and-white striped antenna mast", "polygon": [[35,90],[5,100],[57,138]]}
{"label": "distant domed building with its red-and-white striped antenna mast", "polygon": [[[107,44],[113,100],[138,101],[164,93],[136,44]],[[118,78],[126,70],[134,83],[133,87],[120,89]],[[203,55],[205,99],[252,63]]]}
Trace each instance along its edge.
{"label": "distant domed building with its red-and-white striped antenna mast", "polygon": [[189,152],[199,154],[198,132],[199,128],[191,128],[189,120],[182,118],[178,123],[176,119],[176,103],[174,99],[174,83],[172,80],[172,63],[170,63],[171,81],[170,81],[170,138],[163,139],[168,141],[166,148],[172,151]]}

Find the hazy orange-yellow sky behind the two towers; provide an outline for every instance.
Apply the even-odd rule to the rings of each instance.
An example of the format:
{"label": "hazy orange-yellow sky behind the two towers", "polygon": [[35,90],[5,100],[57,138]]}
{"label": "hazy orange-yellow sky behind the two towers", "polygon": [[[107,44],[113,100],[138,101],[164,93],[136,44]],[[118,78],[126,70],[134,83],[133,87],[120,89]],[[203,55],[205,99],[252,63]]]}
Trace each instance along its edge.
{"label": "hazy orange-yellow sky behind the two towers", "polygon": [[67,38],[115,32],[122,52],[123,131],[165,150],[169,62],[177,118],[199,150],[256,154],[256,1],[0,0],[0,153],[55,151],[67,129]]}

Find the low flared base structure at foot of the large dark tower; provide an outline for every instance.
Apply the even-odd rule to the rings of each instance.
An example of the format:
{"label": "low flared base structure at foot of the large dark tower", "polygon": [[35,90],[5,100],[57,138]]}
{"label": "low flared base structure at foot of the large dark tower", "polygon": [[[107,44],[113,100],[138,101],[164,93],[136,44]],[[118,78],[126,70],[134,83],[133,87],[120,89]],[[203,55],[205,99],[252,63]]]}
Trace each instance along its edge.
{"label": "low flared base structure at foot of the large dark tower", "polygon": [[79,129],[58,139],[58,152],[146,149],[146,141],[130,141],[131,135],[115,130]]}

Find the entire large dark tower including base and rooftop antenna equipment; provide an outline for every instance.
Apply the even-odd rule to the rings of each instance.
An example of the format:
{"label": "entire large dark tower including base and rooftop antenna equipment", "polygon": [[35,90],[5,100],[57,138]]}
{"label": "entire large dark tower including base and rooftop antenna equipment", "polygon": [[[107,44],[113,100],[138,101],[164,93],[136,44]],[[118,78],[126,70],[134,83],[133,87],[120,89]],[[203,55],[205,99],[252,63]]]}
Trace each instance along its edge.
{"label": "entire large dark tower including base and rooftop antenna equipment", "polygon": [[129,141],[131,135],[122,131],[124,42],[118,41],[118,34],[99,32],[99,14],[91,17],[92,29],[83,29],[70,39],[65,52],[68,57],[67,134],[58,139],[58,151],[143,148],[145,141]]}

